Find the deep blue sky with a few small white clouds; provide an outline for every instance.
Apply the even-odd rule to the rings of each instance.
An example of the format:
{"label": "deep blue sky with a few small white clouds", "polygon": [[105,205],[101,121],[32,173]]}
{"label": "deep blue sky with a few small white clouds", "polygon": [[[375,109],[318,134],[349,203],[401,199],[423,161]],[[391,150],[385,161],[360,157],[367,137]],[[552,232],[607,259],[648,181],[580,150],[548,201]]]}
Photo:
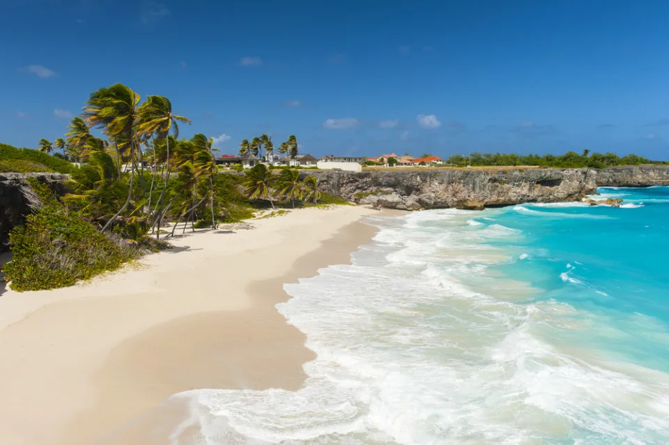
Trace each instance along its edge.
{"label": "deep blue sky with a few small white clouds", "polygon": [[0,142],[61,137],[116,82],[222,153],[668,159],[667,1],[0,2]]}

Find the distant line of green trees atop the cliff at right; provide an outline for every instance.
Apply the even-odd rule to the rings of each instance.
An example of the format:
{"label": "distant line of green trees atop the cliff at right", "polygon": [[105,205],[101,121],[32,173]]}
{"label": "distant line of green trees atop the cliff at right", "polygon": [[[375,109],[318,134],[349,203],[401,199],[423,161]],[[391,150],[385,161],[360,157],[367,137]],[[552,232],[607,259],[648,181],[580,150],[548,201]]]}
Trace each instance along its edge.
{"label": "distant line of green trees atop the cliff at right", "polygon": [[630,154],[620,158],[615,153],[590,153],[590,150],[583,150],[582,154],[569,151],[562,156],[551,154],[539,156],[500,154],[500,153],[471,153],[469,156],[453,155],[446,161],[449,164],[458,167],[472,166],[504,166],[504,165],[539,165],[540,167],[559,167],[559,168],[605,168],[615,165],[641,165],[641,164],[661,164],[651,161],[641,156]]}

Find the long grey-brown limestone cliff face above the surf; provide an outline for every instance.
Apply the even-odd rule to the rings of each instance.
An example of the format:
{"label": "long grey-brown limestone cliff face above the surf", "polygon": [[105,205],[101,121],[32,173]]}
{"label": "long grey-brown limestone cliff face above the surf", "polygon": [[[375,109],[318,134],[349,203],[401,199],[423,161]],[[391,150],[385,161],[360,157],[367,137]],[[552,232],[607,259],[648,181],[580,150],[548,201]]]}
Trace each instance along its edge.
{"label": "long grey-brown limestone cliff face above the surf", "polygon": [[321,190],[358,204],[401,210],[483,209],[522,202],[575,201],[597,186],[669,185],[669,166],[612,169],[370,169],[309,172]]}

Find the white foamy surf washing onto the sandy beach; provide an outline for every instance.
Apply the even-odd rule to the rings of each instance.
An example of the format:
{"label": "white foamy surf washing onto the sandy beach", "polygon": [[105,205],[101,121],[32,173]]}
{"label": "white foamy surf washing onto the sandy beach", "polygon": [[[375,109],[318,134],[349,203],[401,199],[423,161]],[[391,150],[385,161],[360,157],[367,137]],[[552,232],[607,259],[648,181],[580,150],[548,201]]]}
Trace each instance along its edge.
{"label": "white foamy surf washing onto the sandy beach", "polygon": [[[468,218],[386,220],[353,264],[285,285],[293,298],[277,309],[317,354],[304,386],[176,395],[191,409],[180,428],[207,445],[665,443],[668,375],[563,338],[615,338],[604,315],[495,296],[527,286],[503,277],[477,287],[498,252],[474,234],[515,232]],[[560,277],[576,284],[572,273]]]}

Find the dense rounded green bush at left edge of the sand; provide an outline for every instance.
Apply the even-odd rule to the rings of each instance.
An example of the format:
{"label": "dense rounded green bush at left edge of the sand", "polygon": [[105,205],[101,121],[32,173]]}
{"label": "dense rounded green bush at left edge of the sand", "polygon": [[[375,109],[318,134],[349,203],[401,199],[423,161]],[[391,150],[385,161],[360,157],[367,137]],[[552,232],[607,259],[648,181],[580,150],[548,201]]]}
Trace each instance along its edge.
{"label": "dense rounded green bush at left edge of the sand", "polygon": [[31,181],[43,208],[10,233],[12,261],[5,279],[17,291],[74,285],[139,257],[140,248],[114,234],[98,232],[79,213],[70,211],[46,186]]}

